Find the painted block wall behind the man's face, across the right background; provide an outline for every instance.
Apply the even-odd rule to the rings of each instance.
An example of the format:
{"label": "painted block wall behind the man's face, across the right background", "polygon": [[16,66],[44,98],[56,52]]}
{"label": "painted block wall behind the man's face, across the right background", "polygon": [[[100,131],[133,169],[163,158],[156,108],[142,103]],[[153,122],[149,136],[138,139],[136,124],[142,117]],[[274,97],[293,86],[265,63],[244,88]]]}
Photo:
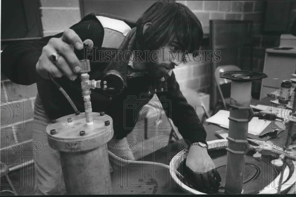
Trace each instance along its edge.
{"label": "painted block wall behind the man's face, across the right background", "polygon": [[[209,20],[252,20],[253,21],[253,70],[263,71],[265,49],[279,45],[280,35],[263,34],[266,1],[176,1],[191,9],[200,19],[205,36],[209,33]],[[292,2],[289,27],[296,17],[296,2]],[[289,32],[287,32],[289,33]],[[208,49],[209,46],[202,46]],[[223,54],[221,54],[223,57]],[[208,93],[210,90],[210,63],[195,63],[178,66],[174,72],[181,88],[189,87]],[[252,84],[252,96],[259,98],[261,80]]]}

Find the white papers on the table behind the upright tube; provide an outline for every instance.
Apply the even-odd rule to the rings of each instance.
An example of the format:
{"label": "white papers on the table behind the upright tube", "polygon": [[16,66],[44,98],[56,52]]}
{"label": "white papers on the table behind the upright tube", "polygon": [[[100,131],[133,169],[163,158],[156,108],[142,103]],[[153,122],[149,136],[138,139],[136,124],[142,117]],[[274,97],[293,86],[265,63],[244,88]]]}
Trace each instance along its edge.
{"label": "white papers on the table behind the upright tube", "polygon": [[[227,110],[219,110],[215,115],[208,118],[206,122],[218,124],[223,128],[229,128],[229,111]],[[271,121],[261,120],[258,117],[253,117],[248,125],[248,133],[253,135],[259,135],[269,124]]]}

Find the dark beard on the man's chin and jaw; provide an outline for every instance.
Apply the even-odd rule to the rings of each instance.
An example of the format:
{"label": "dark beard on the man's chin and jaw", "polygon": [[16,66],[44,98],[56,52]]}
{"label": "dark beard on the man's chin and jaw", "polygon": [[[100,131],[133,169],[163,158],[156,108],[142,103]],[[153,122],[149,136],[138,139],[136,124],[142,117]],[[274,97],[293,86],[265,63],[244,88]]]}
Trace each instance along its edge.
{"label": "dark beard on the man's chin and jaw", "polygon": [[150,77],[155,79],[161,79],[165,76],[169,70],[175,68],[174,63],[165,64],[165,63],[156,63],[149,62],[147,65],[148,74]]}

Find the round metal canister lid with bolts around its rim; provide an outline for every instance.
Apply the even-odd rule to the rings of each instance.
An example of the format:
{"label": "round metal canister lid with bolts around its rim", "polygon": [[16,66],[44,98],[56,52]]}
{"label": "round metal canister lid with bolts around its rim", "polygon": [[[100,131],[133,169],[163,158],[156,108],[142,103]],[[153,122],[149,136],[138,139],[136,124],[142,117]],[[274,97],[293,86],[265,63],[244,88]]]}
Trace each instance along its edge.
{"label": "round metal canister lid with bolts around its rim", "polygon": [[49,146],[62,152],[79,152],[105,146],[113,137],[112,118],[107,114],[92,114],[92,125],[86,124],[84,112],[66,115],[55,123],[49,123],[46,127]]}

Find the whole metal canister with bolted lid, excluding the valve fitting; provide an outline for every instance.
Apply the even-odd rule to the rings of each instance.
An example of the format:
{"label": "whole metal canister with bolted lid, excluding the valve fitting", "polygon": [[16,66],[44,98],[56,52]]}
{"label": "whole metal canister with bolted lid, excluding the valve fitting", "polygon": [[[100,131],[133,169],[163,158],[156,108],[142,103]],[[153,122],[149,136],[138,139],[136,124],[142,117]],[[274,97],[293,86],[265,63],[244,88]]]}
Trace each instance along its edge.
{"label": "whole metal canister with bolted lid, excluding the valve fitting", "polygon": [[113,136],[112,118],[93,113],[67,115],[46,127],[49,145],[60,151],[67,194],[105,194],[111,188],[106,142]]}

